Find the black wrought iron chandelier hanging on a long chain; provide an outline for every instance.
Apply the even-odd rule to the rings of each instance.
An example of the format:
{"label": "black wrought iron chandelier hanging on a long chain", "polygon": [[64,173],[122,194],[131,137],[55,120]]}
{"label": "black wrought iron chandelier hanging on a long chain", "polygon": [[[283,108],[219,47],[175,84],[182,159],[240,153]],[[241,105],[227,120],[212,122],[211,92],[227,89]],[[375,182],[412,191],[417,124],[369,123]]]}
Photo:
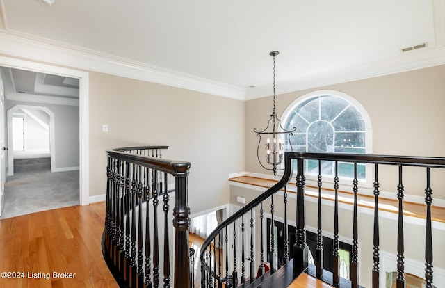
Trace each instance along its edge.
{"label": "black wrought iron chandelier hanging on a long chain", "polygon": [[[267,126],[262,131],[257,131],[257,128],[254,128],[253,131],[257,133],[257,136],[259,136],[258,141],[258,147],[257,147],[257,157],[260,165],[266,169],[266,170],[272,170],[273,175],[277,175],[277,171],[283,170],[284,168],[279,168],[280,164],[283,161],[283,155],[284,155],[284,137],[287,137],[289,146],[292,150],[291,145],[291,135],[294,131],[296,131],[296,127],[293,127],[292,131],[288,131],[284,129],[281,125],[281,120],[278,118],[277,112],[275,110],[275,56],[278,55],[278,51],[272,51],[269,53],[270,56],[273,56],[273,108],[272,108],[272,114],[270,114],[270,119],[267,122]],[[269,126],[272,125],[272,131],[268,131]],[[270,134],[272,135],[272,140],[270,138],[267,138],[266,143],[263,143],[266,147],[266,150],[264,151],[264,156],[266,156],[266,161],[261,161],[260,157],[260,146],[261,146],[261,136]]]}

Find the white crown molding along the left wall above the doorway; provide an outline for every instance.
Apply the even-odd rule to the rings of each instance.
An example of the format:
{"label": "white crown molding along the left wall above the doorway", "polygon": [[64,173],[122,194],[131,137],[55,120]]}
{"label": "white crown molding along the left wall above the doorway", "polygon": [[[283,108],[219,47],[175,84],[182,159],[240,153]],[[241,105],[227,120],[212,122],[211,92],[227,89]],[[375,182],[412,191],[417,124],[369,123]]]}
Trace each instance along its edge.
{"label": "white crown molding along the left wall above the doorway", "polygon": [[243,100],[245,88],[175,72],[97,51],[49,42],[31,35],[0,31],[0,54],[127,77],[166,86]]}

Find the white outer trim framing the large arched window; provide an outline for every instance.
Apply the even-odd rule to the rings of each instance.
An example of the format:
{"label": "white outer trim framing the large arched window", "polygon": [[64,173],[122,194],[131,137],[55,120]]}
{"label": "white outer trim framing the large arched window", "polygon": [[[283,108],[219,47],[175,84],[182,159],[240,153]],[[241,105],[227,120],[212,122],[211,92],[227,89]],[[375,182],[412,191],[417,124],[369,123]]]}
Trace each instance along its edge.
{"label": "white outer trim framing the large arched window", "polygon": [[[316,90],[316,91],[312,91],[310,93],[306,93],[306,94],[298,97],[291,104],[289,104],[289,106],[287,106],[286,109],[284,110],[284,112],[282,114],[282,119],[281,119],[283,125],[284,125],[284,123],[286,123],[287,119],[291,115],[292,111],[296,108],[296,106],[300,105],[302,102],[307,101],[307,99],[311,99],[311,98],[319,97],[319,96],[325,96],[325,95],[332,95],[334,97],[339,97],[341,99],[344,99],[347,102],[349,102],[350,104],[352,104],[353,106],[355,106],[357,111],[359,111],[359,113],[362,115],[362,118],[365,123],[365,128],[366,128],[366,131],[365,131],[365,134],[366,134],[365,135],[365,145],[366,145],[365,153],[372,154],[372,125],[371,125],[371,118],[369,118],[368,112],[366,112],[366,109],[364,109],[364,106],[362,106],[362,104],[360,104],[357,101],[357,99],[355,99],[354,97],[351,97],[350,95],[348,95],[346,93],[343,93],[343,92],[340,92],[337,90]],[[372,175],[373,175],[372,166],[370,164],[366,164],[366,179],[360,180],[359,186],[371,188],[371,186],[373,184],[372,183],[372,179],[373,179]],[[317,185],[318,179],[316,176],[305,175],[305,177],[306,177],[307,185],[312,185],[312,186]],[[323,175],[323,182],[332,182],[333,183],[334,178]],[[345,185],[349,186],[348,184],[345,184]],[[352,186],[352,182],[351,182],[350,186]]]}

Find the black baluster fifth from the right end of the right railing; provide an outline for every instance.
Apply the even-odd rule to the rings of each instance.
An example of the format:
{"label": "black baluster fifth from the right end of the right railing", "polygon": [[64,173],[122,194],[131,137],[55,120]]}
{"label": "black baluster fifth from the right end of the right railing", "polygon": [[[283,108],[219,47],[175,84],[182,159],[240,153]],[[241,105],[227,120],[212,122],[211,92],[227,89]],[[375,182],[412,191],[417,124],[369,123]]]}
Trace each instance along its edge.
{"label": "black baluster fifth from the right end of the right railing", "polygon": [[335,287],[340,285],[340,275],[339,275],[339,163],[335,162],[334,168],[334,253],[332,255],[332,282],[334,282]]}

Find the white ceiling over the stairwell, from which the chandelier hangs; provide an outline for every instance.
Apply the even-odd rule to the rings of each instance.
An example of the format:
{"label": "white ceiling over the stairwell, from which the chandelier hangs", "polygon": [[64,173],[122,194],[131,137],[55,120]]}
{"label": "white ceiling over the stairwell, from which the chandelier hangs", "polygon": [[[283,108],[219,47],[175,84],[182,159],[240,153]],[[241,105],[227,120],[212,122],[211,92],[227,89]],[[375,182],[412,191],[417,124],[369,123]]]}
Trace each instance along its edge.
{"label": "white ceiling over the stairwell, from which the chandelier hangs", "polygon": [[6,33],[209,79],[245,99],[271,94],[274,50],[277,93],[445,63],[443,0],[0,1]]}

